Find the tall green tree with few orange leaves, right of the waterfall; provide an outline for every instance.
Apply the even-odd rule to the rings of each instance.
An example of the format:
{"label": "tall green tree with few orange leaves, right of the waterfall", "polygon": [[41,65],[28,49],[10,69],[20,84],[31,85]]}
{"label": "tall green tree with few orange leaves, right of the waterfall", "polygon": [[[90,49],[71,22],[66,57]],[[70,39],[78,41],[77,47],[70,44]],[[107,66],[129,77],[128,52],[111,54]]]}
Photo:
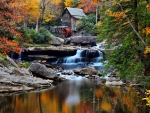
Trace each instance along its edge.
{"label": "tall green tree with few orange leaves, right of the waterfall", "polygon": [[114,48],[107,56],[109,66],[114,66],[122,79],[139,80],[149,66],[149,60],[143,60],[145,46],[149,36],[145,29],[150,25],[150,14],[146,11],[146,1],[119,1],[112,6],[103,7],[102,26],[99,38],[107,39],[108,48]]}

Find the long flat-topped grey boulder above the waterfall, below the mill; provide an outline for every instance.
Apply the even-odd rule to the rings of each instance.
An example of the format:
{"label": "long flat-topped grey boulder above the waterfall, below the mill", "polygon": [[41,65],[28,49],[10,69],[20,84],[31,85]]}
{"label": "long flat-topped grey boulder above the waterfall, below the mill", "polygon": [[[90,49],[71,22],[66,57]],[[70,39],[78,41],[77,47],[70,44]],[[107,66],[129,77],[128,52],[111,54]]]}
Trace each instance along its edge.
{"label": "long flat-topped grey boulder above the waterfall, below the mill", "polygon": [[73,36],[69,39],[66,39],[65,44],[72,44],[72,45],[96,45],[96,36]]}

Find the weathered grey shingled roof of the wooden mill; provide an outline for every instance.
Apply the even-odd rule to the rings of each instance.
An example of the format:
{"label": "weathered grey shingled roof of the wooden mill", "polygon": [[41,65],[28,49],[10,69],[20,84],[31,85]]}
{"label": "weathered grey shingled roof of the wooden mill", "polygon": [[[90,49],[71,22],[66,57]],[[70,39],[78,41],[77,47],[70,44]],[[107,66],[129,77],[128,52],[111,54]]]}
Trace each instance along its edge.
{"label": "weathered grey shingled roof of the wooden mill", "polygon": [[[67,7],[65,9],[65,11],[68,10],[70,15],[73,16],[74,18],[77,18],[77,19],[81,19],[83,16],[86,16],[83,12],[82,9],[79,9],[79,8],[70,8],[70,7]],[[64,11],[64,12],[65,12]],[[64,14],[64,13],[63,13]]]}

